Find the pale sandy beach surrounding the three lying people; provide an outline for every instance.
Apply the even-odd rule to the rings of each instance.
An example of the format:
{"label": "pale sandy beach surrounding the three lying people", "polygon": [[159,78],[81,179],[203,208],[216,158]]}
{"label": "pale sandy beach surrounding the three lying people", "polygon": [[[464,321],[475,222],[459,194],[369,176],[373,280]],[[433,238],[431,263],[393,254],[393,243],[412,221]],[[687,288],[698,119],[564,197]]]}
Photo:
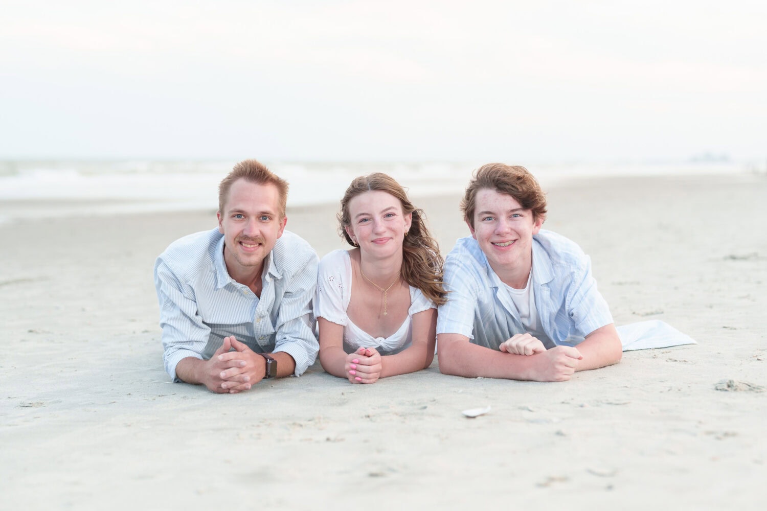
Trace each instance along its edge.
{"label": "pale sandy beach surrounding the three lying people", "polygon": [[[214,395],[163,371],[152,269],[216,205],[0,224],[0,508],[762,509],[767,391],[715,386],[767,386],[767,176],[548,192],[545,228],[591,255],[617,325],[662,319],[697,345],[565,383],[435,360],[350,385],[317,363]],[[468,234],[458,201],[415,201],[444,254]],[[335,211],[289,208],[288,229],[322,256],[343,246]]]}

